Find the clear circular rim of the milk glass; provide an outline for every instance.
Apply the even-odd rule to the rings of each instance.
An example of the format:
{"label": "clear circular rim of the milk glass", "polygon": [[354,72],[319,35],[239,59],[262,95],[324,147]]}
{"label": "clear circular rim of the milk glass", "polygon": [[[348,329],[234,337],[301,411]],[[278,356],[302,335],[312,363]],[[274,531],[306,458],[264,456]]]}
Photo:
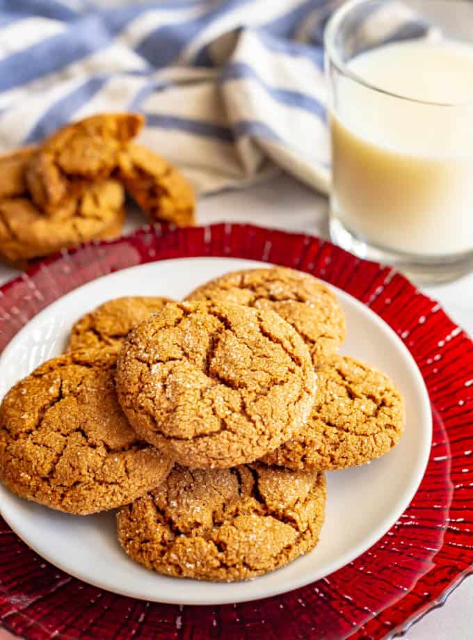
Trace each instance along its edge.
{"label": "clear circular rim of the milk glass", "polygon": [[[323,48],[325,51],[325,55],[330,61],[330,63],[337,69],[337,71],[354,82],[364,86],[367,89],[371,89],[376,91],[376,93],[380,93],[383,95],[387,95],[392,98],[396,98],[399,100],[405,100],[406,102],[415,102],[417,104],[426,104],[430,106],[444,106],[444,107],[466,107],[473,106],[473,100],[468,100],[467,102],[435,102],[432,100],[422,100],[418,98],[412,98],[408,95],[402,95],[401,93],[395,93],[394,91],[389,91],[387,89],[383,89],[376,84],[369,82],[368,80],[362,78],[358,73],[353,72],[342,58],[340,58],[337,49],[335,47],[335,35],[339,29],[340,24],[344,18],[351,13],[355,8],[362,6],[364,4],[373,3],[376,0],[348,0],[344,2],[339,8],[337,8],[334,13],[330,16],[328,23],[326,24],[326,28],[323,31]],[[429,0],[438,2],[439,0]],[[449,3],[451,0],[440,0],[442,3]],[[468,6],[469,3],[466,0],[455,0],[458,4],[463,4]],[[472,12],[473,13],[473,12]]]}

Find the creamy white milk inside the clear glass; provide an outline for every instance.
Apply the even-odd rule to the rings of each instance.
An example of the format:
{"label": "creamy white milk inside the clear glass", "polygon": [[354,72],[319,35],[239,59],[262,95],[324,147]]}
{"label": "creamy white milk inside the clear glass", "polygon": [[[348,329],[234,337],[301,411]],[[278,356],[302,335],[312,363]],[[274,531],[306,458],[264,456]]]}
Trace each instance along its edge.
{"label": "creamy white milk inside the clear glass", "polygon": [[335,216],[383,248],[431,256],[472,250],[473,46],[394,42],[347,66],[371,88],[337,81]]}

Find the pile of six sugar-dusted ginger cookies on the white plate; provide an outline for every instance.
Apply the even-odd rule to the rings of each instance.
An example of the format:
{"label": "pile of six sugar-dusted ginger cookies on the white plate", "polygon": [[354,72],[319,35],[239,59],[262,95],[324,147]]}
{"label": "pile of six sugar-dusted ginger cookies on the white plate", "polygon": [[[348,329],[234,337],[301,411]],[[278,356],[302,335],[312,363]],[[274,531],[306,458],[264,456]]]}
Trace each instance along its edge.
{"label": "pile of six sugar-dusted ginger cookies on the white plate", "polygon": [[291,269],[109,301],[6,395],[0,477],[52,509],[119,508],[122,547],[158,573],[267,573],[319,540],[324,472],[403,431],[399,393],[337,355],[344,335],[335,294]]}

